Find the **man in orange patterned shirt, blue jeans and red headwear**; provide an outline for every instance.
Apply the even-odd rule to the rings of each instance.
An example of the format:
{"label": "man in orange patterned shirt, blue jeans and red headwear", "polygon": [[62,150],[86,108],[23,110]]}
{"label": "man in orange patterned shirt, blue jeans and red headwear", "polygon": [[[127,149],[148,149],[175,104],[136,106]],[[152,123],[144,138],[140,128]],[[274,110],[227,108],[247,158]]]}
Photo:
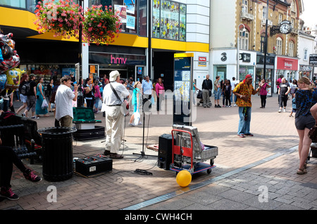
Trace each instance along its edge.
{"label": "man in orange patterned shirt, blue jeans and red headwear", "polygon": [[239,128],[237,136],[244,138],[245,136],[253,136],[250,133],[251,122],[251,95],[259,92],[260,88],[254,90],[252,86],[252,77],[247,74],[245,79],[235,86],[233,94],[237,95],[237,106],[239,107]]}

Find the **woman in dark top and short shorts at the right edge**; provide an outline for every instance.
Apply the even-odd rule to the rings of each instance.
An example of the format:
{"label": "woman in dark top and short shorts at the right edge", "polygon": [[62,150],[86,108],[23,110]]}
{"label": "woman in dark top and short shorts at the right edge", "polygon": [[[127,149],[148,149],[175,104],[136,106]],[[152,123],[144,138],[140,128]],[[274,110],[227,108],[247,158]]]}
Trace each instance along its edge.
{"label": "woman in dark top and short shorts at the right edge", "polygon": [[295,126],[299,135],[299,169],[297,174],[307,173],[306,159],[311,147],[311,138],[309,131],[316,124],[316,120],[311,114],[311,107],[317,102],[317,91],[313,89],[307,77],[302,77],[297,81],[298,90],[295,95],[296,99],[296,115]]}

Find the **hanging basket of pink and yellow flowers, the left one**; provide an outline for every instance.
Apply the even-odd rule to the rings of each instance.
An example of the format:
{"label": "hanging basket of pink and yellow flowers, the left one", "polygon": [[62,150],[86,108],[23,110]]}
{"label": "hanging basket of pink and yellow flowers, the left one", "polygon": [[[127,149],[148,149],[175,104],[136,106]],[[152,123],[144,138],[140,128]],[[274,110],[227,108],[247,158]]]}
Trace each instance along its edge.
{"label": "hanging basket of pink and yellow flowers, the left one", "polygon": [[54,32],[54,37],[64,38],[76,37],[82,24],[82,7],[75,4],[73,0],[49,1],[37,4],[35,11],[35,25],[39,33]]}

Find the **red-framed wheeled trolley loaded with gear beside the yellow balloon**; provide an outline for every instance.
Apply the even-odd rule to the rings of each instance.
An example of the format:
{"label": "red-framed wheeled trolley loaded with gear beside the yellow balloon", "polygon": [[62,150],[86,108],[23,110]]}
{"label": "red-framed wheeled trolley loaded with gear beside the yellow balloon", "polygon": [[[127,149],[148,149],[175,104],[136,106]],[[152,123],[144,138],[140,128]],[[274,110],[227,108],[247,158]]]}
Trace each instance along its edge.
{"label": "red-framed wheeled trolley loaded with gear beside the yellow balloon", "polygon": [[[218,155],[218,147],[202,145],[196,127],[174,125],[172,130],[172,164],[171,171],[187,170],[199,173],[216,167],[214,159]],[[209,160],[209,164],[204,163]]]}

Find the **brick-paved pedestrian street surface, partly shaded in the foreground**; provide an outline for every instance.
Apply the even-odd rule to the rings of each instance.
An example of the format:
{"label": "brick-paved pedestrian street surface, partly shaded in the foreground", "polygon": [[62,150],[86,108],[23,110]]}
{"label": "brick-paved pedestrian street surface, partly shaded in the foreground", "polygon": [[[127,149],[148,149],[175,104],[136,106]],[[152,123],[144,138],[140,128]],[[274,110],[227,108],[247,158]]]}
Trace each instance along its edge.
{"label": "brick-paved pedestrian street surface, partly shaded in the foreground", "polygon": [[[289,117],[291,101],[287,101],[287,112],[282,113],[278,113],[276,95],[267,101],[262,109],[259,96],[252,96],[254,137],[246,138],[237,136],[238,107],[194,107],[197,118],[192,125],[197,126],[201,143],[218,147],[218,156],[211,173],[194,174],[188,187],[178,185],[174,171],[158,167],[155,150],[144,147],[145,155],[139,157],[142,125],[128,126],[130,117],[126,117],[125,142],[120,150],[124,159],[114,159],[112,171],[89,178],[74,174],[61,182],[43,179],[31,183],[15,169],[11,185],[20,199],[1,199],[0,209],[120,210],[132,214],[135,210],[316,210],[317,158],[310,158],[308,173],[296,173],[298,136],[294,117]],[[167,99],[165,103],[170,107],[172,102]],[[159,136],[172,130],[173,114],[166,114],[166,110],[159,113],[145,115],[144,145],[158,144]],[[105,124],[102,113],[96,114],[96,119]],[[37,126],[54,126],[52,113],[51,117],[37,119]],[[102,154],[104,145],[104,138],[74,140],[73,157]],[[42,164],[23,162],[42,176]],[[137,169],[147,172],[136,173]],[[56,190],[55,198],[51,189]],[[133,217],[119,216],[118,220],[124,218]]]}

